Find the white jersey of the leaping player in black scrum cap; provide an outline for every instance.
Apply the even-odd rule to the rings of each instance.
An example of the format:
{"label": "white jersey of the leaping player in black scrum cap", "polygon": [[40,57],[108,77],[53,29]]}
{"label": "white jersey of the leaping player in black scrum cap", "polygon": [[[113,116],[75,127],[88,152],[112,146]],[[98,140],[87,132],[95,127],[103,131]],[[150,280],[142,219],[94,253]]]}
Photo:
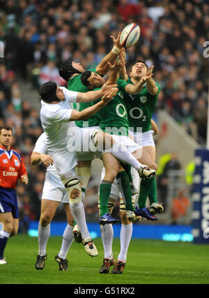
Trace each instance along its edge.
{"label": "white jersey of the leaping player in black scrum cap", "polygon": [[[69,138],[75,139],[75,134],[70,135],[70,127],[76,127],[75,122],[70,122],[72,107],[70,103],[77,100],[78,92],[63,89],[65,100],[58,104],[47,104],[41,101],[40,121],[46,134],[46,146],[51,151],[59,151],[68,144]],[[67,138],[68,135],[68,138]]]}

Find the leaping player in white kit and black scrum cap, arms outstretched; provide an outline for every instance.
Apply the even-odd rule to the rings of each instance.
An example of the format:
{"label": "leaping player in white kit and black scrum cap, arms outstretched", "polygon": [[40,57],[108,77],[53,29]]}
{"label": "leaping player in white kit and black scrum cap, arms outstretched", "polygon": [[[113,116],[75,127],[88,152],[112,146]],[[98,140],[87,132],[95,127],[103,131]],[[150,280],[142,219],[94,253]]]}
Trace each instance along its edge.
{"label": "leaping player in white kit and black scrum cap, arms outstretched", "polygon": [[[98,90],[98,92],[87,92],[84,94],[69,91],[49,81],[41,85],[39,89],[42,105],[40,120],[46,134],[47,149],[68,192],[70,210],[79,225],[86,252],[91,256],[98,256],[98,251],[93,244],[86,225],[81,185],[75,172],[77,160],[75,158],[75,131],[73,128],[75,127],[75,120],[91,117],[91,115],[108,104],[117,90],[117,88],[114,89],[113,87],[113,85],[106,84],[102,91]],[[102,95],[102,100],[98,104],[94,107],[86,108],[82,112],[72,110],[70,106],[72,102],[92,101],[100,98]]]}

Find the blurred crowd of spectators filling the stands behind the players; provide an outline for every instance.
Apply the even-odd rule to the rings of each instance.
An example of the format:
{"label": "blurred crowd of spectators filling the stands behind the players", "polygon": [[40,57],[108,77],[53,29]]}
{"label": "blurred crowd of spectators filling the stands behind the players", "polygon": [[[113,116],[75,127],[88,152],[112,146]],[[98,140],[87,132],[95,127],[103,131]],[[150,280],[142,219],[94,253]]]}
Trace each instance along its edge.
{"label": "blurred crowd of spectators filling the stands behind the players", "polygon": [[[136,47],[127,49],[127,70],[138,58],[154,65],[160,83],[157,108],[163,108],[198,142],[206,142],[209,40],[208,0],[0,0],[0,124],[12,126],[15,147],[33,183],[18,186],[26,219],[38,219],[45,169],[30,166],[42,133],[38,111],[22,100],[27,81],[65,85],[59,64],[74,60],[88,69],[111,50],[109,37],[131,22],[141,28]],[[38,99],[37,99],[38,101]]]}

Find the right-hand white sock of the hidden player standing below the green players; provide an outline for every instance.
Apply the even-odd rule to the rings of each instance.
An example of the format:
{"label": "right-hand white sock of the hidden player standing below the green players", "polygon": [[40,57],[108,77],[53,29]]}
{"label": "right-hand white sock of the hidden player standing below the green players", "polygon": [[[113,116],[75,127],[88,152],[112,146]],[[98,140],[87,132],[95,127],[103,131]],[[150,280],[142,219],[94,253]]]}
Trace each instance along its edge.
{"label": "right-hand white sock of the hidden player standing below the green players", "polygon": [[130,244],[130,240],[132,238],[133,224],[121,224],[121,234],[120,234],[120,242],[121,242],[121,251],[118,255],[118,260],[126,263],[127,258],[127,249]]}

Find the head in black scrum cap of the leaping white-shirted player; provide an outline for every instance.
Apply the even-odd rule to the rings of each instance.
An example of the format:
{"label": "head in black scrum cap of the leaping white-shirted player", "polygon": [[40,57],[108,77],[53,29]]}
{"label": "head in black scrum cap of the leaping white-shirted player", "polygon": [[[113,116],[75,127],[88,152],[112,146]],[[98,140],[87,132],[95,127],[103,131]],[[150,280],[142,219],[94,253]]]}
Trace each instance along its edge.
{"label": "head in black scrum cap of the leaping white-shirted player", "polygon": [[62,101],[65,99],[63,90],[55,82],[48,81],[39,88],[39,94],[43,101],[50,103],[52,101]]}

